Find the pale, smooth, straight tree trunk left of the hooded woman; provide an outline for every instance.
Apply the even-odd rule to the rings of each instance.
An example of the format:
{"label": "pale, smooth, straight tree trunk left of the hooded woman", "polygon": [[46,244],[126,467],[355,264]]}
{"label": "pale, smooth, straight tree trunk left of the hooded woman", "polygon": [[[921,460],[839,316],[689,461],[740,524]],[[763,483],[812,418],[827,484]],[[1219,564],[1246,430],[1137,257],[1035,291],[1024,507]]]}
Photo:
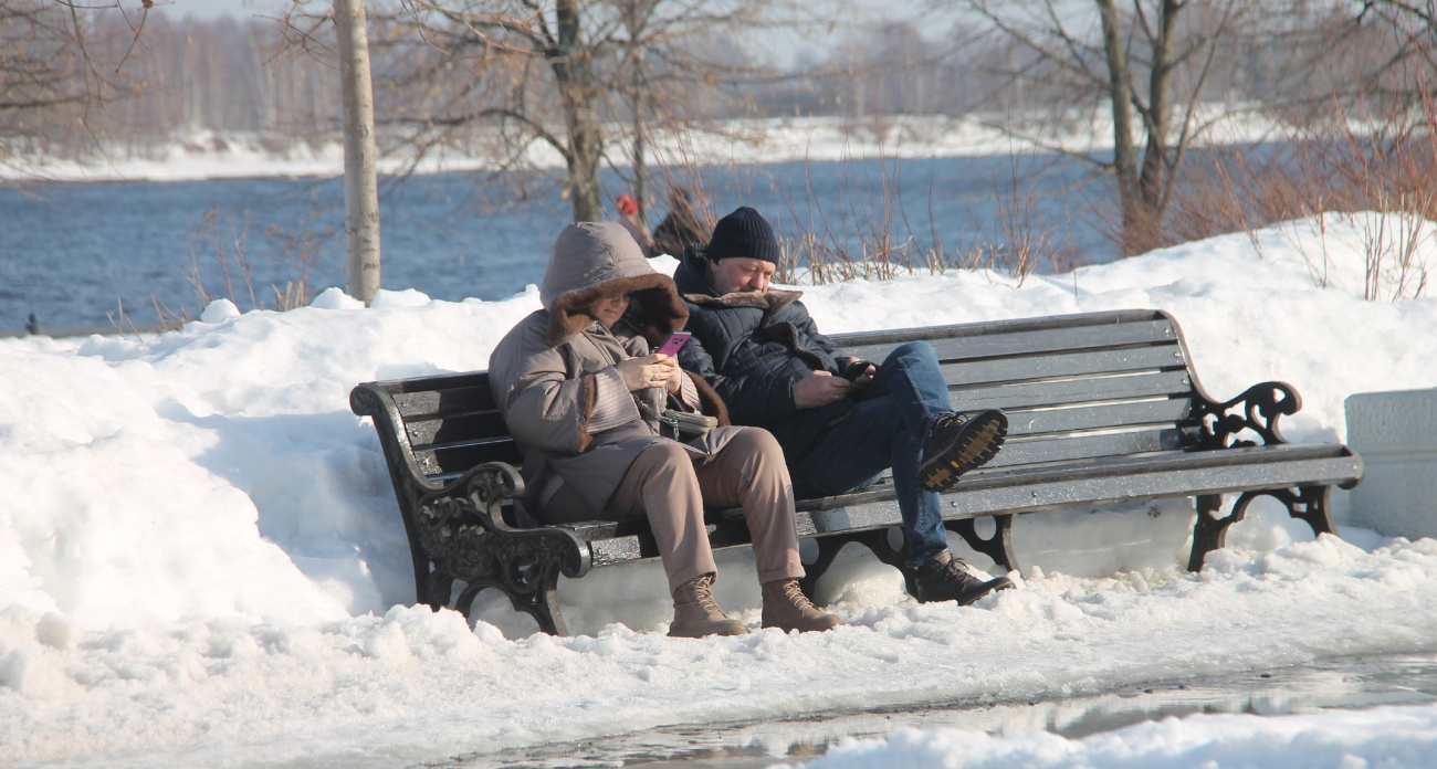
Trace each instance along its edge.
{"label": "pale, smooth, straight tree trunk left of the hooded woman", "polygon": [[335,0],[345,108],[345,290],[365,305],[379,290],[379,183],[364,0]]}

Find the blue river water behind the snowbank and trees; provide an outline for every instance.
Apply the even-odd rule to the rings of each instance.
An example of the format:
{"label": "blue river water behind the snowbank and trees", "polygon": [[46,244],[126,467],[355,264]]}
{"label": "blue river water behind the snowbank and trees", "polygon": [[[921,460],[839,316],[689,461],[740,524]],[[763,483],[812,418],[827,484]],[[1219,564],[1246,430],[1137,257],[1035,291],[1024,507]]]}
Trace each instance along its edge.
{"label": "blue river water behind the snowbank and trees", "polygon": [[[625,191],[616,174],[604,183],[606,198]],[[664,188],[662,181],[655,185]],[[940,241],[951,253],[1003,243],[1016,237],[1013,227],[1029,227],[1071,241],[1088,262],[1115,256],[1092,224],[1105,187],[1058,157],[707,167],[701,185],[717,216],[749,204],[782,237],[815,231],[854,253],[861,237],[881,231],[894,243]],[[570,216],[560,190],[553,178],[535,175],[385,180],[384,287],[458,300],[503,299],[537,283]],[[652,221],[664,211],[655,206]],[[312,246],[310,293],[343,286],[341,180],[0,188],[0,333],[23,331],[30,313],[47,329],[108,328],[121,310],[135,325],[194,318],[203,309],[194,275],[210,298],[231,296],[240,309],[273,308],[269,286],[300,276],[297,243]],[[247,263],[253,302],[237,257]]]}

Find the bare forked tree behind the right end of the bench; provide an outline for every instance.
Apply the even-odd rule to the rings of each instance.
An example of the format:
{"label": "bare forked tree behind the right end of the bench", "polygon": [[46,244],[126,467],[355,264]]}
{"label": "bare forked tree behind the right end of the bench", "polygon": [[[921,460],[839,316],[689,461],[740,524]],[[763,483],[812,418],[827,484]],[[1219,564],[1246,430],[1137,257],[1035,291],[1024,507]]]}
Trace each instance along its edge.
{"label": "bare forked tree behind the right end of the bench", "polygon": [[[1158,244],[1184,155],[1201,128],[1200,99],[1220,43],[1259,14],[1260,1],[960,0],[1020,56],[1004,88],[1046,82],[1068,108],[1112,119],[1111,160],[1078,155],[1112,174],[1121,200],[1124,254]],[[1039,144],[1040,135],[1030,135]]]}

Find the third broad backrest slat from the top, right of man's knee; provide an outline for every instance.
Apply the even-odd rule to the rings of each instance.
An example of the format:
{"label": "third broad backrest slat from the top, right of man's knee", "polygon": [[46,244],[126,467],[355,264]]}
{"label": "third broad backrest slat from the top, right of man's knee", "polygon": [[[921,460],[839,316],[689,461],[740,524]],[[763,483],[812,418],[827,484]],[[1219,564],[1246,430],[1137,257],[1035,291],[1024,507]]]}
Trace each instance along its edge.
{"label": "third broad backrest slat from the top, right of man's knee", "polygon": [[1188,397],[1193,379],[1187,371],[1095,377],[997,387],[948,388],[954,411],[977,408],[1035,408],[1096,401],[1131,401],[1154,397]]}

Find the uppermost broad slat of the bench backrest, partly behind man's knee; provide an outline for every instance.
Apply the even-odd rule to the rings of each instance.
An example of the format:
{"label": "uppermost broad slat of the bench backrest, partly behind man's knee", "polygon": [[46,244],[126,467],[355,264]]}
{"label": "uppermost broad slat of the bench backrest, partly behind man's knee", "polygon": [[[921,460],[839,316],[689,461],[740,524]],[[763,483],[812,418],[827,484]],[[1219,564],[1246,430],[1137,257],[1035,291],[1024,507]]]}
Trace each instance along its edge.
{"label": "uppermost broad slat of the bench backrest, partly behind man's knee", "polygon": [[[1171,345],[1175,341],[1177,333],[1173,331],[1173,323],[1167,321],[1145,321],[1121,325],[1019,331],[990,336],[930,338],[928,344],[933,345],[940,361],[966,361],[1142,344]],[[851,355],[868,361],[882,361],[895,346],[898,345],[859,344],[845,349]]]}

